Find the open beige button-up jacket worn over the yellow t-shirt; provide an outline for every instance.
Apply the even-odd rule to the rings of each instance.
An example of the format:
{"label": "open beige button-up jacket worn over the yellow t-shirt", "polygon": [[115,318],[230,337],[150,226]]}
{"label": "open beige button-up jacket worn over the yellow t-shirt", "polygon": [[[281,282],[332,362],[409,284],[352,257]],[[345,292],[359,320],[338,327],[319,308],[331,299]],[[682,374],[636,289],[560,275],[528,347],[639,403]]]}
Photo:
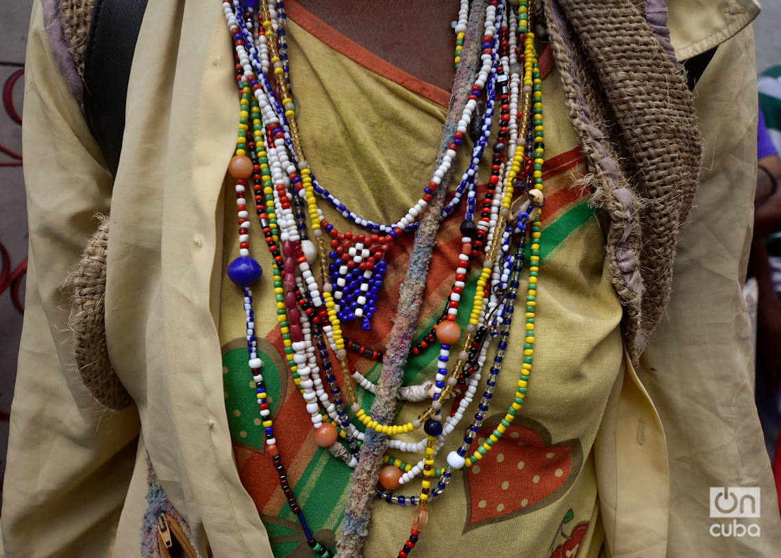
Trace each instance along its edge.
{"label": "open beige button-up jacket worn over the yellow t-shirt", "polygon": [[[615,386],[595,445],[607,551],[777,556],[781,521],[740,290],[757,115],[753,38],[744,28],[758,5],[669,4],[679,59],[720,46],[694,91],[703,181],[679,241],[668,317],[637,371]],[[150,2],[138,44],[112,183],[35,2],[23,137],[30,264],[4,556],[139,556],[148,453],[201,555],[270,558],[237,475],[221,388],[220,191],[236,126],[223,13],[213,0]],[[108,346],[136,402],[119,413],[80,384],[60,290],[95,230],[92,215],[109,210]],[[739,485],[761,489],[761,536],[712,536],[709,487]]]}

